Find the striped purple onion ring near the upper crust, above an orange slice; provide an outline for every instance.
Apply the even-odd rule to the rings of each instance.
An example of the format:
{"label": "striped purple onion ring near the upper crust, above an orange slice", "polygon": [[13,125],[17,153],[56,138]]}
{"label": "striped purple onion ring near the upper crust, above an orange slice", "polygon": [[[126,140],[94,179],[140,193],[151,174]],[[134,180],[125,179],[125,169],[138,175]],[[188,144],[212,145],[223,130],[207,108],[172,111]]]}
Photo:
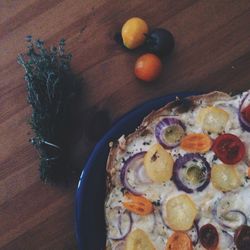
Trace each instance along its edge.
{"label": "striped purple onion ring near the upper crust, above an orange slice", "polygon": [[[166,134],[166,130],[169,128],[171,129],[171,127],[176,127],[176,129],[179,130],[180,135],[178,138],[178,135],[176,140],[174,141],[167,141],[165,138],[165,134]],[[180,121],[179,119],[173,118],[173,117],[168,117],[168,118],[164,118],[162,119],[155,127],[155,136],[156,139],[158,140],[158,142],[167,149],[171,149],[171,148],[175,148],[180,144],[180,140],[182,138],[182,136],[184,135],[184,131],[185,131],[185,125],[182,123],[182,121]]]}

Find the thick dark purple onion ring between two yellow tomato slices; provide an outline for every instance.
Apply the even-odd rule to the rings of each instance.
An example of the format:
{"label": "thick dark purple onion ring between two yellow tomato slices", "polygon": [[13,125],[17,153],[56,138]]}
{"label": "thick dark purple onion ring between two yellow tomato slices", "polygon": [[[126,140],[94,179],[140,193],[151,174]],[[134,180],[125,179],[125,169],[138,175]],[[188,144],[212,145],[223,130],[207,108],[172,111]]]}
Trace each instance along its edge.
{"label": "thick dark purple onion ring between two yellow tomato slices", "polygon": [[[192,166],[194,164],[195,166]],[[190,171],[197,171],[200,177],[202,178],[201,182],[192,183],[188,180],[188,175],[195,175],[197,173],[192,173]],[[209,182],[211,176],[211,168],[207,160],[202,157],[200,154],[185,154],[184,156],[179,157],[174,163],[173,171],[173,181],[179,190],[183,190],[187,193],[193,193],[194,191],[202,191],[205,189]],[[199,176],[197,177],[199,178]],[[195,178],[194,178],[195,179]]]}

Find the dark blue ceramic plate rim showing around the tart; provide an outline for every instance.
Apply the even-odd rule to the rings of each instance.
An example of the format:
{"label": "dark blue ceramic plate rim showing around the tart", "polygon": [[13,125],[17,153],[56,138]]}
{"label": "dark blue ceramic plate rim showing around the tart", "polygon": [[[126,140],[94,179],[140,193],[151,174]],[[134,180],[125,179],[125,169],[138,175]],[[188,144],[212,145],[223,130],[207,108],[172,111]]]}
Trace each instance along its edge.
{"label": "dark blue ceramic plate rim showing around the tart", "polygon": [[105,249],[106,230],[104,199],[108,143],[122,134],[128,135],[152,110],[195,93],[177,93],[148,101],[124,115],[96,144],[82,171],[76,191],[76,237],[80,250]]}

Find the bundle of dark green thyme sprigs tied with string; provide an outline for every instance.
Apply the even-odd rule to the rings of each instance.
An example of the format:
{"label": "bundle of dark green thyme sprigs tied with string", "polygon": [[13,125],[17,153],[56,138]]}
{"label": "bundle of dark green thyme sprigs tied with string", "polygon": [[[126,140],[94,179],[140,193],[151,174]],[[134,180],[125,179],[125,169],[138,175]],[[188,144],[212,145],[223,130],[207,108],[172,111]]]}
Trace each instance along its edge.
{"label": "bundle of dark green thyme sprigs tied with string", "polygon": [[17,62],[25,70],[28,103],[32,107],[30,125],[34,137],[30,141],[40,155],[41,180],[65,182],[72,172],[67,160],[66,137],[79,80],[72,73],[72,56],[64,51],[64,39],[51,48],[31,36],[26,40],[27,52],[18,55]]}

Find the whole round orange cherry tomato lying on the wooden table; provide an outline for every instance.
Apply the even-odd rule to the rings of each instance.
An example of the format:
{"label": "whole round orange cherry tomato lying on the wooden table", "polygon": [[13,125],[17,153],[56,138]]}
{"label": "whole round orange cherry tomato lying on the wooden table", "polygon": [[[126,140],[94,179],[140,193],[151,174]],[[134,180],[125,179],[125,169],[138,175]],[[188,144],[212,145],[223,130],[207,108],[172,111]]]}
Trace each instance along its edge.
{"label": "whole round orange cherry tomato lying on the wooden table", "polygon": [[161,73],[162,63],[159,57],[148,53],[140,56],[135,63],[135,75],[137,78],[150,82],[155,80]]}

